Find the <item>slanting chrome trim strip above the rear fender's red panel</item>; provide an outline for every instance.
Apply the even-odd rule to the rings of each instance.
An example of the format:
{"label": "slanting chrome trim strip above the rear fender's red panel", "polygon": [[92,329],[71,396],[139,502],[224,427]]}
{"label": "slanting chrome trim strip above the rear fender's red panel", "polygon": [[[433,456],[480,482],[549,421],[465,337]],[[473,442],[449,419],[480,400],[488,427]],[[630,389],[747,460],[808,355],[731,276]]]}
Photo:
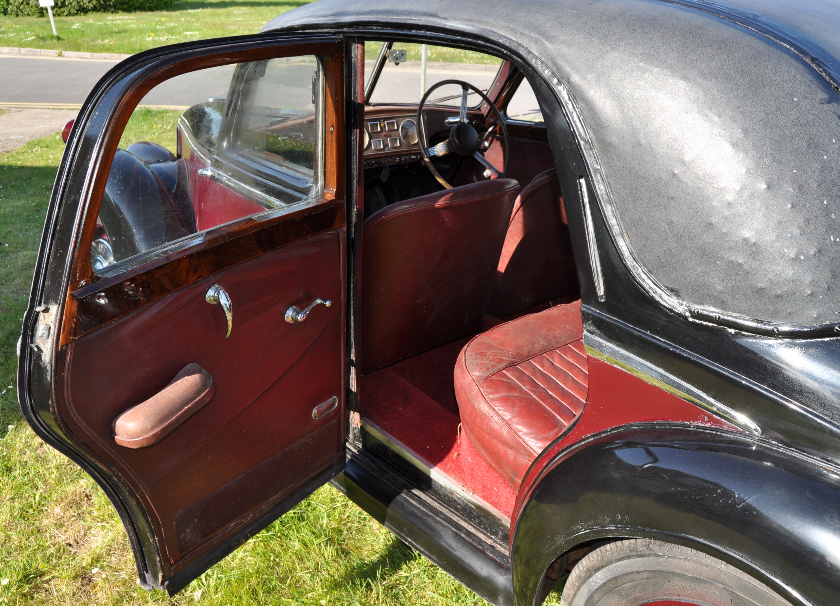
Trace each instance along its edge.
{"label": "slanting chrome trim strip above the rear fender's red panel", "polygon": [[588,332],[584,332],[583,343],[586,348],[586,353],[593,358],[605,361],[612,366],[617,366],[622,371],[632,374],[633,377],[638,377],[644,382],[664,389],[666,392],[672,393],[677,398],[682,398],[686,402],[705,408],[710,413],[726,419],[729,423],[737,425],[745,431],[756,435],[761,434],[761,428],[753,423],[752,419],[749,419],[746,415],[732,410],[726,404],[718,402],[695,387],[691,387],[685,381],[664,372],[637,356],[633,356],[627,350],[622,350],[617,345],[612,345],[612,343],[608,343],[606,340],[591,335]]}

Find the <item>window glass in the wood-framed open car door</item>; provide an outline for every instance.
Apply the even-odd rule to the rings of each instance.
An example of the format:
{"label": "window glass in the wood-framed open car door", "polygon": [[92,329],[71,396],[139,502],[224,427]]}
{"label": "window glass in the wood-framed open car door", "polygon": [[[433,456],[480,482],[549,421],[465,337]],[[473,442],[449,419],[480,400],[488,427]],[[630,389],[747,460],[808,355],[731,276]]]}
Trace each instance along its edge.
{"label": "window glass in the wood-framed open car door", "polygon": [[207,229],[320,198],[322,82],[309,55],[193,71],[148,92],[113,158],[93,271],[115,275]]}

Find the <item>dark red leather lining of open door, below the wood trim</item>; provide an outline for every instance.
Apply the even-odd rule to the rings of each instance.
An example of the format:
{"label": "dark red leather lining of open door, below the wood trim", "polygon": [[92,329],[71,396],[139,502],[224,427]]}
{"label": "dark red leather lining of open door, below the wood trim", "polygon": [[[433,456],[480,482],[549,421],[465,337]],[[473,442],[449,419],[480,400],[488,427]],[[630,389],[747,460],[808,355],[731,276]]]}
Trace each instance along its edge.
{"label": "dark red leather lining of open door, below the wood trim", "polygon": [[[61,418],[144,498],[173,569],[186,563],[186,550],[206,551],[235,532],[238,520],[339,461],[344,246],[340,228],[272,250],[68,345],[60,368]],[[214,283],[233,302],[227,340],[222,309],[204,299]],[[333,305],[319,305],[305,322],[285,321],[291,305],[305,307],[319,297]],[[215,397],[153,445],[134,450],[115,444],[113,419],[160,392],[190,362],[213,377]],[[338,408],[312,419],[312,408],[333,396]],[[281,453],[294,465],[287,463],[282,476],[255,491],[250,472],[276,471]],[[190,516],[201,523],[186,528]]]}

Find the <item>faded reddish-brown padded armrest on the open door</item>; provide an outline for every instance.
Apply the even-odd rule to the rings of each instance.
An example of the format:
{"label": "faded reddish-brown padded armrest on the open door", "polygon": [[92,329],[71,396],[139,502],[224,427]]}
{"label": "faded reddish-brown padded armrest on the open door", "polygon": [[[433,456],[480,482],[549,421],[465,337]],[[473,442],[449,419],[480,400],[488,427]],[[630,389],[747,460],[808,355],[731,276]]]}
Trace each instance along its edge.
{"label": "faded reddish-brown padded armrest on the open door", "polygon": [[216,384],[210,373],[195,362],[187,364],[160,392],[117,417],[113,439],[128,448],[153,445],[215,394]]}

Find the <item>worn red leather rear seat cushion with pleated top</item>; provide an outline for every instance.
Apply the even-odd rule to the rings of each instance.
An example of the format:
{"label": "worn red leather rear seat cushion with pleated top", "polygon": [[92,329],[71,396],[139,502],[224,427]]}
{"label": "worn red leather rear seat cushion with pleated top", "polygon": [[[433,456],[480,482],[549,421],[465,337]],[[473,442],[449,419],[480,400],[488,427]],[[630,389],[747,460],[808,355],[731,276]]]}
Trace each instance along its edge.
{"label": "worn red leather rear seat cushion with pleated top", "polygon": [[454,383],[470,442],[518,488],[537,455],[583,412],[589,372],[580,301],[476,336],[461,350]]}

